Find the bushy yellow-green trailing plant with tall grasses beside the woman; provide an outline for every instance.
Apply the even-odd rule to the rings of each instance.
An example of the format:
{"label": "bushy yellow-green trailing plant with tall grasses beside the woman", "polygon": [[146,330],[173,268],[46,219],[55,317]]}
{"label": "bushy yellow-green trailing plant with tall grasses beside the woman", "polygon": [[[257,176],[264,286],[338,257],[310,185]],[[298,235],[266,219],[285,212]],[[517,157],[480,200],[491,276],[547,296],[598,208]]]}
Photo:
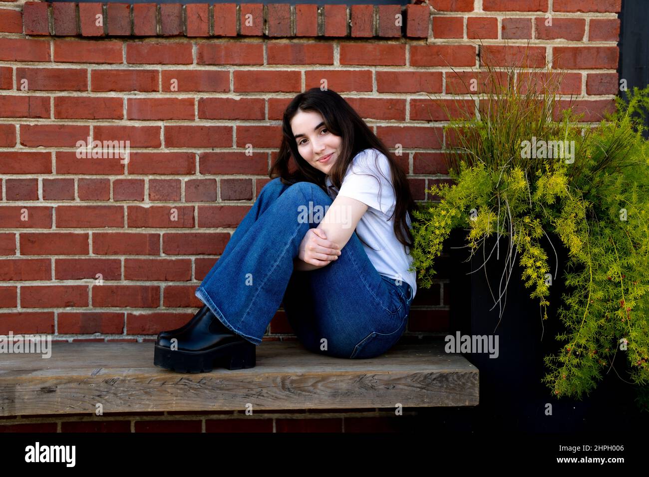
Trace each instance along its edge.
{"label": "bushy yellow-green trailing plant with tall grasses beside the woman", "polygon": [[[562,343],[557,355],[544,358],[543,381],[557,397],[582,398],[624,353],[628,379],[644,386],[638,402],[647,410],[649,142],[643,119],[649,87],[634,88],[626,101],[616,98],[615,112],[593,126],[561,107],[562,77],[550,69],[487,66],[482,91],[471,94],[478,110],[465,110],[445,127],[454,184],[433,185],[428,192],[439,202],[414,214],[412,269],[421,286],[430,287],[434,260],[454,228],[469,229],[472,254],[485,238],[508,236],[508,263],[520,254],[521,278],[548,319],[553,274],[550,251],[539,239],[554,234],[569,252],[562,278],[571,291],[563,296],[567,308],[558,312],[567,332],[556,336]],[[537,139],[547,147],[530,157],[528,143]],[[558,145],[572,154],[561,154]]]}

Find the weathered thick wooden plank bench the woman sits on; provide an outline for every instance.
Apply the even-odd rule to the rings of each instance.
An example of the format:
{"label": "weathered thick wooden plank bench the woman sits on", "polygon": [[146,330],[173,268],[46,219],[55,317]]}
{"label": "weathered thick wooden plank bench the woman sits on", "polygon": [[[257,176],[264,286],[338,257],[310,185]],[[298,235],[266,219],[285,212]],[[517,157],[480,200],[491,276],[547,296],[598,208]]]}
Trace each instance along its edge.
{"label": "weathered thick wooden plank bench the woman sits on", "polygon": [[0,415],[140,411],[477,406],[478,369],[443,341],[397,344],[369,360],[264,341],[256,367],[181,374],[153,365],[153,343],[52,343],[0,355]]}

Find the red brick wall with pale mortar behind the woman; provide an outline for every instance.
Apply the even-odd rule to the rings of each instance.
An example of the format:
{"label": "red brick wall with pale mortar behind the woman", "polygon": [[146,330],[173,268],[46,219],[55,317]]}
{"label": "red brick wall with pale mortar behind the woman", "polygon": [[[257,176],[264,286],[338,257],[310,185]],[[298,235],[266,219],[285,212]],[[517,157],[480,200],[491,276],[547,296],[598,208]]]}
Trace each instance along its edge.
{"label": "red brick wall with pale mortar behind the woman", "polygon": [[[158,22],[154,4],[0,0],[0,334],[152,339],[186,323],[269,180],[284,107],[321,79],[391,151],[402,145],[419,201],[448,177],[445,117],[426,93],[465,93],[458,74],[487,54],[507,64],[529,43],[533,64],[569,70],[565,98],[598,119],[617,92],[618,10],[620,0],[164,4]],[[129,140],[129,164],[77,159],[88,136]],[[447,260],[419,289],[406,336],[447,330]],[[281,308],[269,331],[290,337]]]}

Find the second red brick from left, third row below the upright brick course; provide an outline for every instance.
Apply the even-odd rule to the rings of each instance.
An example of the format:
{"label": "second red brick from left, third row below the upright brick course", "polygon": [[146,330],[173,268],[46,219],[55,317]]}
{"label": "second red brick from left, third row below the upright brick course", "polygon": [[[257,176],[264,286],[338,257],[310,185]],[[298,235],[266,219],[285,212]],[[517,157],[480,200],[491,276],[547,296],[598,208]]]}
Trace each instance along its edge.
{"label": "second red brick from left, third row below the upright brick course", "polygon": [[122,98],[55,96],[55,119],[124,119]]}

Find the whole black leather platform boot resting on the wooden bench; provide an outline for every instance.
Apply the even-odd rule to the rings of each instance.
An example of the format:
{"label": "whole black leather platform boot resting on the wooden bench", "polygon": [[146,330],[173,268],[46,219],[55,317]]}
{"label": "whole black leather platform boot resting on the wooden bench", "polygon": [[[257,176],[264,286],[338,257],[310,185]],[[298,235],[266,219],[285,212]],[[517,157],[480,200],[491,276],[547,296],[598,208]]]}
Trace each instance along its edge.
{"label": "whole black leather platform boot resting on the wooden bench", "polygon": [[215,366],[247,369],[256,365],[256,345],[228,329],[209,308],[197,313],[185,326],[180,332],[158,337],[154,365],[178,373],[208,373]]}

